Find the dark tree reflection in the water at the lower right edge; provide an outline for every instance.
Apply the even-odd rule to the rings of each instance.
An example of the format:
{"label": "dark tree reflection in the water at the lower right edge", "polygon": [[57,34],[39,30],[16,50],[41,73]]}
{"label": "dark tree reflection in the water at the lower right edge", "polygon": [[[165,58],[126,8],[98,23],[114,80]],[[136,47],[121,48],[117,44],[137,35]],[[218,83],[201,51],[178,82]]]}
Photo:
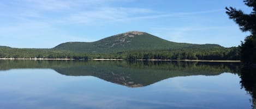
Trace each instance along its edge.
{"label": "dark tree reflection in the water at the lower right edge", "polygon": [[240,84],[251,94],[252,108],[256,108],[256,68],[245,66],[241,68]]}

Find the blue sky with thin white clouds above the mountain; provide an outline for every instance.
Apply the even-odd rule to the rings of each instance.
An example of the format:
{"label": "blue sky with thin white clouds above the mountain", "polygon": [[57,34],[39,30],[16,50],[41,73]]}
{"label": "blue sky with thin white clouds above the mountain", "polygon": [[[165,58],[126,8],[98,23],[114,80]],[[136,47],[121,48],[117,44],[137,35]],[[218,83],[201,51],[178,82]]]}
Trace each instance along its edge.
{"label": "blue sky with thin white clouds above the mountain", "polygon": [[239,46],[249,33],[225,14],[242,0],[0,0],[0,46],[52,48],[144,31],[184,43]]}

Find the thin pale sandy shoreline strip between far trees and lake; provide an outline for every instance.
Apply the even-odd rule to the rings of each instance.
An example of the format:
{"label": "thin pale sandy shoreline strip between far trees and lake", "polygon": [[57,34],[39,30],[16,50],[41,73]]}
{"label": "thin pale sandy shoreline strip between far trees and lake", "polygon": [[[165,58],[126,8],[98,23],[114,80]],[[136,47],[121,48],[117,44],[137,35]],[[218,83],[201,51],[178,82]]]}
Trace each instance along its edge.
{"label": "thin pale sandy shoreline strip between far trees and lake", "polygon": [[[0,58],[0,60],[76,60],[76,59],[45,59],[45,58],[31,58],[31,59],[25,59],[25,58]],[[83,60],[83,59],[78,59]],[[88,59],[88,60],[95,60],[95,61],[123,61],[124,59]],[[188,62],[241,62],[240,60],[158,60],[158,59],[150,59],[150,60],[144,60],[144,59],[138,59],[136,61],[188,61]]]}

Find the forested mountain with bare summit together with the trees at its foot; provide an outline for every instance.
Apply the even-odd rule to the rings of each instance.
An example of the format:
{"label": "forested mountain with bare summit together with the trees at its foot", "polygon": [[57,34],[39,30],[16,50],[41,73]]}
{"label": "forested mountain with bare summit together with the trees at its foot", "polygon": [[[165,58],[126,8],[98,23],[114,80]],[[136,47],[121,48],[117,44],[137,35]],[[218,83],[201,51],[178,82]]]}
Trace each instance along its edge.
{"label": "forested mountain with bare summit together with the trees at its foot", "polygon": [[130,31],[96,42],[66,42],[51,49],[0,46],[0,58],[124,59],[124,60],[240,60],[238,47],[218,44],[176,43]]}

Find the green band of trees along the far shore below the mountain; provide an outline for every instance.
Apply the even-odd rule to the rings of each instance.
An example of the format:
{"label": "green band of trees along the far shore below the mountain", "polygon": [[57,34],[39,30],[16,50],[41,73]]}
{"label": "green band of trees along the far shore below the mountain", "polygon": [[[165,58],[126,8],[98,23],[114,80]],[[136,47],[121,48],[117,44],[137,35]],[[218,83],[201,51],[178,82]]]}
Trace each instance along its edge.
{"label": "green band of trees along the far shore below the mountain", "polygon": [[125,59],[125,60],[240,60],[240,49],[231,48],[209,48],[209,49],[169,49],[153,51],[133,51],[119,53],[74,53],[52,49],[20,49],[0,48],[0,58],[14,59]]}

